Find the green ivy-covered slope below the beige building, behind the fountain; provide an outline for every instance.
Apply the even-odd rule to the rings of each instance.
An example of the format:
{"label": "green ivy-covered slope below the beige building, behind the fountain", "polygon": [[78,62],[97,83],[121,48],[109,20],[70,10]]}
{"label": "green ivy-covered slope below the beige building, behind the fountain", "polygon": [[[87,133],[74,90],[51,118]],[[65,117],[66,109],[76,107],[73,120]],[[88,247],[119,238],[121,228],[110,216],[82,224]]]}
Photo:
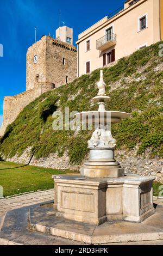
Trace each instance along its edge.
{"label": "green ivy-covered slope below the beige building, behind the fountain", "polygon": [[[130,118],[112,125],[117,147],[132,149],[139,145],[137,154],[150,148],[151,157],[163,155],[163,57],[159,57],[159,44],[136,51],[104,69],[106,94],[111,97],[106,109],[131,113]],[[99,70],[95,70],[30,103],[1,138],[1,155],[21,155],[27,147],[32,147],[37,158],[56,152],[61,156],[68,150],[70,161],[80,164],[91,132],[54,131],[52,114],[57,110],[64,113],[64,107],[70,107],[70,112],[97,109],[92,97],[97,95],[98,80]]]}

